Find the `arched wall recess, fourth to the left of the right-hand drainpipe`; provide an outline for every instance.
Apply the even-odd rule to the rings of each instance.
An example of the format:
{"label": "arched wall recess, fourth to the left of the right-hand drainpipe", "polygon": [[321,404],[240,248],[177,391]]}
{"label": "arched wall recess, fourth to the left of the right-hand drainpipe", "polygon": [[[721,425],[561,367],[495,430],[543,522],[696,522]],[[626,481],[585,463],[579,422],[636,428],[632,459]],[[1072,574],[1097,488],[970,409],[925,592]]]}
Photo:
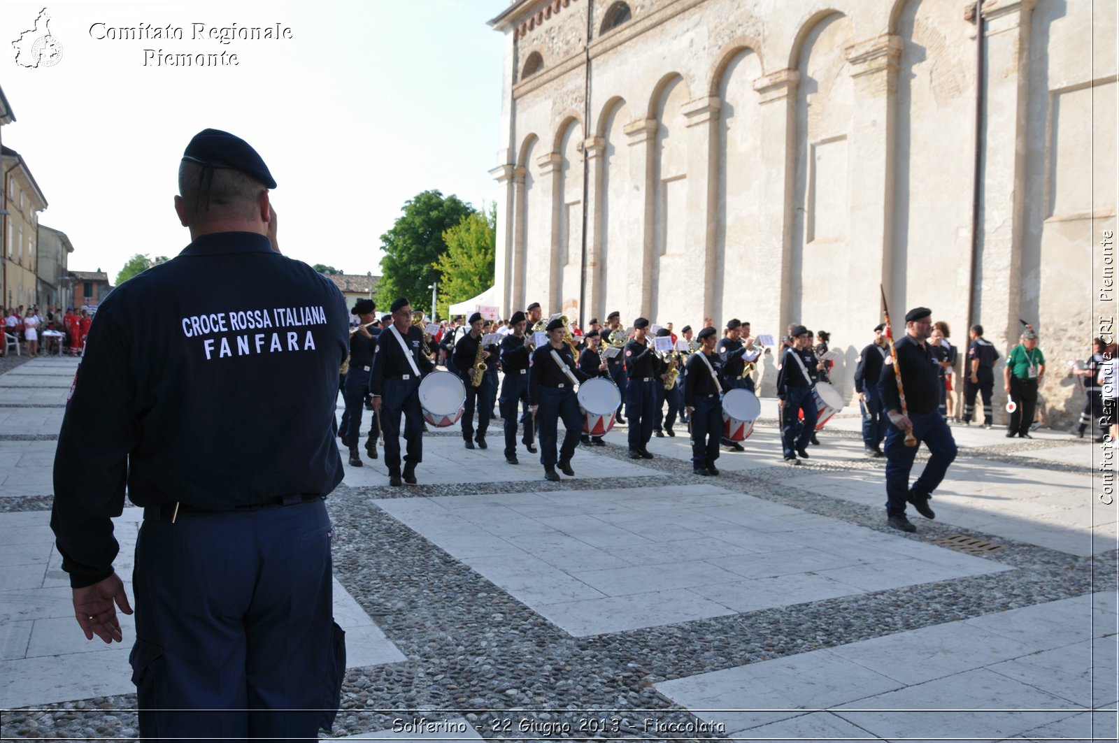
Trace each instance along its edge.
{"label": "arched wall recess, fourth to the left of the right-hand drainpipe", "polygon": [[[649,319],[676,322],[690,312],[683,292],[673,291],[674,276],[693,267],[687,255],[686,229],[688,206],[687,120],[684,105],[692,100],[687,83],[679,74],[661,78],[653,93],[650,112],[657,122],[652,150],[652,235],[650,256],[651,286]],[[665,291],[661,291],[661,286]]]}

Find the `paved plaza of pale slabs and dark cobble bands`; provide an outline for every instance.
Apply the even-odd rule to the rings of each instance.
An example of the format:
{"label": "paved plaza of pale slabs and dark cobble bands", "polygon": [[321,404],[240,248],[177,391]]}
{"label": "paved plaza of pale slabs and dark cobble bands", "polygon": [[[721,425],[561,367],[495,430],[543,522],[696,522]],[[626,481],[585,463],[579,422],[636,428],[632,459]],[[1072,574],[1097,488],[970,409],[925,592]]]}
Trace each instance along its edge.
{"label": "paved plaza of pale slabs and dark cobble bands", "polygon": [[[123,645],[86,642],[48,527],[75,366],[0,376],[6,740],[135,734],[130,618]],[[614,431],[560,483],[523,449],[505,462],[500,421],[486,451],[425,438],[419,486],[388,488],[380,459],[347,465],[328,500],[349,664],[333,735],[1116,739],[1099,444],[953,427],[937,520],[911,514],[906,535],[885,526],[883,463],[849,410],[798,468],[775,423],[763,401],[718,478],[692,474],[681,426],[640,462]],[[130,594],[139,520],[116,526]]]}

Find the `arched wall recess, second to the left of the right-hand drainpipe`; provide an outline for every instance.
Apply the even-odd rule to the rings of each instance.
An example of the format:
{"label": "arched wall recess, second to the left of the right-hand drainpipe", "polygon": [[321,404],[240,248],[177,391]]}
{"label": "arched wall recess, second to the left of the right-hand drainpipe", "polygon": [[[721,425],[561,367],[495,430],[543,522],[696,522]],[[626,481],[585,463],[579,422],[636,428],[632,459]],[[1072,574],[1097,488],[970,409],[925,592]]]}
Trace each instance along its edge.
{"label": "arched wall recess, second to the left of the right-hand drainpipe", "polygon": [[855,96],[845,49],[852,44],[850,19],[834,12],[808,29],[797,55],[790,319],[808,325],[846,309],[837,308],[845,298],[831,286],[846,275],[850,255],[848,137]]}

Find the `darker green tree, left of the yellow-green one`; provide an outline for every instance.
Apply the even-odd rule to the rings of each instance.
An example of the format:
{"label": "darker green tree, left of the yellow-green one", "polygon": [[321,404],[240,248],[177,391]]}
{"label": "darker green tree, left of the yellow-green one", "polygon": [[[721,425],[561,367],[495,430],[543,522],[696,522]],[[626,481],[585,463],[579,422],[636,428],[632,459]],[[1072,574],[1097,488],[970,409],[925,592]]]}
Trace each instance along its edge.
{"label": "darker green tree, left of the yellow-green one", "polygon": [[408,199],[393,228],[380,236],[385,257],[380,260],[377,283],[378,308],[388,309],[397,297],[407,297],[416,309],[426,309],[431,300],[429,286],[440,280],[435,262],[446,252],[443,233],[474,208],[459,199],[444,197],[438,190],[423,191]]}

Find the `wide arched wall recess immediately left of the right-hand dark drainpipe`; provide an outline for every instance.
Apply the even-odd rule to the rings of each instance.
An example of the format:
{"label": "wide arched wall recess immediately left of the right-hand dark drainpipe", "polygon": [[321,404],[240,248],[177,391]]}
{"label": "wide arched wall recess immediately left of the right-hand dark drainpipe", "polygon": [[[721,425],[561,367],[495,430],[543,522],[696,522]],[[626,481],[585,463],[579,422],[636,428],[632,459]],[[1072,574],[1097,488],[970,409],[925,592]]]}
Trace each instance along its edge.
{"label": "wide arched wall recess immediately left of the right-hand dark drainpipe", "polygon": [[[906,305],[967,314],[975,164],[974,26],[958,8],[909,0],[896,8],[902,40],[894,135],[891,286]],[[929,276],[940,280],[934,284]],[[943,282],[943,283],[941,283]],[[957,301],[959,298],[959,301]],[[958,313],[957,313],[958,311]]]}

